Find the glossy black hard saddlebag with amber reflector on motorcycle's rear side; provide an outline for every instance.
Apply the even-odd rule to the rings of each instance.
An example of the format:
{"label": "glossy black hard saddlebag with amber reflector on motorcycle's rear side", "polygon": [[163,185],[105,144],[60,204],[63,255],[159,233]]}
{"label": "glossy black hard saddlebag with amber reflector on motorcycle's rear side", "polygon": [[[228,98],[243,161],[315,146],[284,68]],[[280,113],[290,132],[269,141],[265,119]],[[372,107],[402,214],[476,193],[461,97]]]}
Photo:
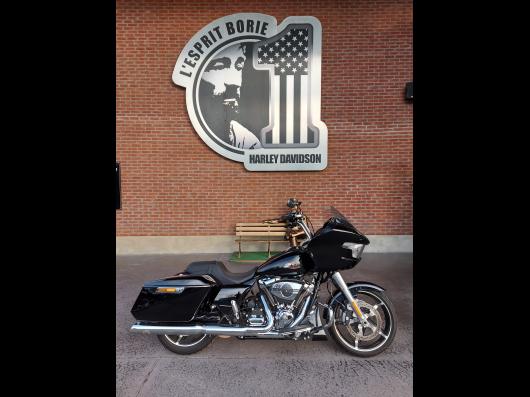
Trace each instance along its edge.
{"label": "glossy black hard saddlebag with amber reflector on motorcycle's rear side", "polygon": [[136,320],[192,321],[215,283],[201,276],[177,274],[144,284],[131,310]]}

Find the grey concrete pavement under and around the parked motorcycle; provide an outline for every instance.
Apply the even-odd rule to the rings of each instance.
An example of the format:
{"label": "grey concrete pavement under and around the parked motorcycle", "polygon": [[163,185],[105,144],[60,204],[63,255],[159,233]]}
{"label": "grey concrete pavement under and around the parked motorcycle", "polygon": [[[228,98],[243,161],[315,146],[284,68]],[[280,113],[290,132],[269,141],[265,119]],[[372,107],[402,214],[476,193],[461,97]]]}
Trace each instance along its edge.
{"label": "grey concrete pavement under and around the parked motorcycle", "polygon": [[[154,335],[129,332],[130,309],[145,281],[182,271],[196,260],[228,254],[116,257],[117,396],[412,396],[412,254],[365,254],[342,272],[346,281],[371,281],[387,289],[398,329],[393,344],[361,359],[332,341],[216,338],[206,349],[179,356]],[[324,292],[324,291],[323,291]]]}

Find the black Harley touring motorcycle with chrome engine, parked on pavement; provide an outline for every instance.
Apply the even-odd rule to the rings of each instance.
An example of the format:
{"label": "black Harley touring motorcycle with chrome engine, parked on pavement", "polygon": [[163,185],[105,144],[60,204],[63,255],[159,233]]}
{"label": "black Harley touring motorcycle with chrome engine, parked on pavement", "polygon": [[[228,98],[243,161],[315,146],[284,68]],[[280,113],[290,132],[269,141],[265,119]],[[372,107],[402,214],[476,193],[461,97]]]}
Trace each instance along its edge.
{"label": "black Harley touring motorcycle with chrome engine, parked on pavement", "polygon": [[[331,337],[347,352],[373,356],[396,333],[396,316],[384,289],[369,282],[346,283],[339,270],[359,263],[369,240],[337,210],[316,233],[301,202],[290,199],[285,217],[305,241],[247,272],[222,262],[190,263],[172,277],[144,284],[132,314],[134,332],[158,335],[172,352],[191,354],[216,335],[245,338]],[[331,281],[331,283],[329,283]],[[324,285],[336,287],[327,303]]]}

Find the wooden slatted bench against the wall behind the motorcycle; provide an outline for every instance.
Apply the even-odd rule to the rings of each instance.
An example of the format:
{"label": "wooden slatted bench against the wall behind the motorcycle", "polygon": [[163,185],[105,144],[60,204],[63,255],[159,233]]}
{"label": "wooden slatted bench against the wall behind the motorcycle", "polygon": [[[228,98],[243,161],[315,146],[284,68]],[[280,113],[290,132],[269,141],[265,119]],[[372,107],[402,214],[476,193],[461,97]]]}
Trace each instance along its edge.
{"label": "wooden slatted bench against the wall behind the motorcycle", "polygon": [[241,258],[242,242],[268,243],[267,254],[271,256],[271,243],[288,243],[285,238],[286,223],[236,223],[236,242],[239,244],[238,257]]}

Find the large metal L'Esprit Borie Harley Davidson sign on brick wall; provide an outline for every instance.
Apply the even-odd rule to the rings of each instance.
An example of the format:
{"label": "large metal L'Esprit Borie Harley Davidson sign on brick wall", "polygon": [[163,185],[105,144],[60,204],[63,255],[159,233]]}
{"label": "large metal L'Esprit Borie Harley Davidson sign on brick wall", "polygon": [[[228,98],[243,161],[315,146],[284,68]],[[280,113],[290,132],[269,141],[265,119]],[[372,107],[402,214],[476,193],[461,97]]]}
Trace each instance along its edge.
{"label": "large metal L'Esprit Borie Harley Davidson sign on brick wall", "polygon": [[220,155],[250,171],[322,170],[321,46],[314,17],[278,25],[269,15],[229,15],[191,38],[173,82],[186,88],[195,131]]}

